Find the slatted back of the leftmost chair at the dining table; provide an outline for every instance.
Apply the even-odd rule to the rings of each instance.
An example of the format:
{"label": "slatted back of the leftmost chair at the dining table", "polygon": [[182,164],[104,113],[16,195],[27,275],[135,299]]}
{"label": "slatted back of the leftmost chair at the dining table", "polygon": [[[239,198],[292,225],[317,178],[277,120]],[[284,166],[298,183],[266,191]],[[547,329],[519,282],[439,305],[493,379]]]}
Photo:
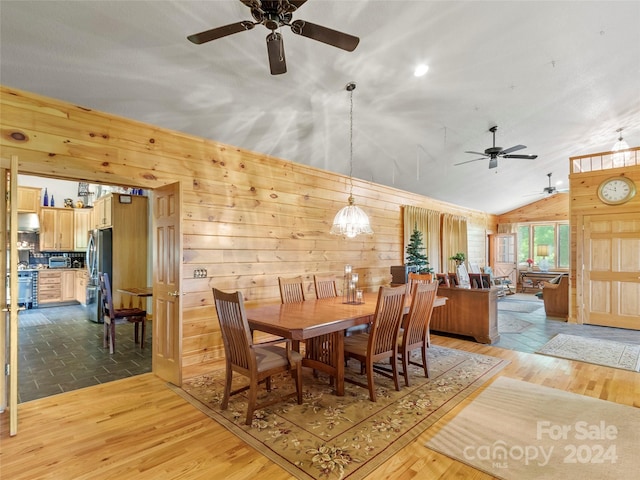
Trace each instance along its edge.
{"label": "slatted back of the leftmost chair at the dining table", "polygon": [[255,364],[251,346],[253,339],[244,310],[241,292],[226,293],[213,289],[226,360],[249,370]]}

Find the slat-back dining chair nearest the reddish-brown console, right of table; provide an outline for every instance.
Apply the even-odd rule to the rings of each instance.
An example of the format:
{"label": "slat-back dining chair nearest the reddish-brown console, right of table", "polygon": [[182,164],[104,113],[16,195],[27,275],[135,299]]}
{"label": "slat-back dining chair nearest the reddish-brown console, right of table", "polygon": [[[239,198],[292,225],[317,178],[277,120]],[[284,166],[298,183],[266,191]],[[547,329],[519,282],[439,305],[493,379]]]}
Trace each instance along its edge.
{"label": "slat-back dining chair nearest the reddish-brown console, right of table", "polygon": [[[437,283],[416,283],[411,290],[411,307],[403,320],[403,328],[400,329],[398,336],[398,357],[402,361],[402,374],[407,387],[409,386],[409,364],[422,367],[424,376],[429,378],[427,363],[429,323],[437,292]],[[417,348],[422,352],[422,364],[411,361],[411,352]]]}

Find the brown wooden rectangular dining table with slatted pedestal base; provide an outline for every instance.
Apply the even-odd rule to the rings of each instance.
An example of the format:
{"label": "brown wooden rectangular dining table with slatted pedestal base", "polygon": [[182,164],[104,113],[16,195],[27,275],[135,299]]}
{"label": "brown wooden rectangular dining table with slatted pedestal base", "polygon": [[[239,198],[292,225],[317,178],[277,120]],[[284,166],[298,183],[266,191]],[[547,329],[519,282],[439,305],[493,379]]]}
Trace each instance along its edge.
{"label": "brown wooden rectangular dining table with slatted pedestal base", "polygon": [[[307,341],[303,366],[323,371],[336,379],[336,394],[344,395],[344,333],[349,327],[371,323],[377,292],[364,292],[363,303],[344,303],[343,298],[310,299],[298,303],[271,304],[247,308],[251,330],[293,340],[293,348]],[[446,297],[436,297],[442,306]],[[406,311],[411,303],[407,296]],[[317,348],[319,344],[323,348]],[[314,346],[314,348],[308,348]]]}

